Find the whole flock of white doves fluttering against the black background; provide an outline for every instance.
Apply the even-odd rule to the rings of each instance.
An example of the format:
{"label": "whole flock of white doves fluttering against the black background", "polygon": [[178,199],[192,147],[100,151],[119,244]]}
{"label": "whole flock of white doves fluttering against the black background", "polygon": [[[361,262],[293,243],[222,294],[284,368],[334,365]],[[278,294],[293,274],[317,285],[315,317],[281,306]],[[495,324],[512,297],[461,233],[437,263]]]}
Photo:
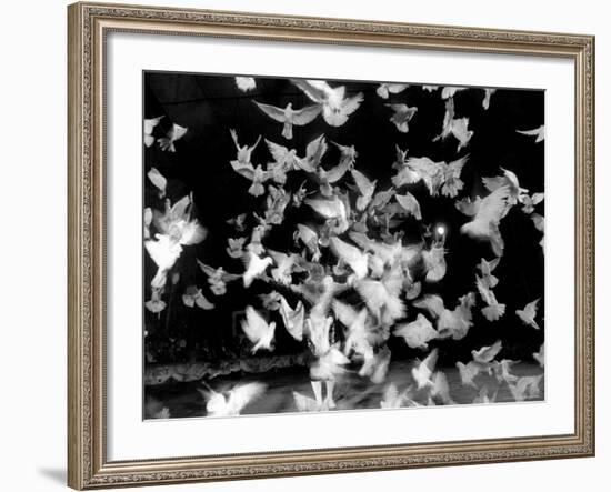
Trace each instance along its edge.
{"label": "whole flock of white doves fluttering against the black background", "polygon": [[[269,292],[261,295],[264,310],[244,307],[241,321],[243,333],[251,342],[252,353],[274,350],[278,330],[286,330],[296,341],[311,351],[311,394],[293,392],[298,411],[325,411],[335,408],[335,383],[348,367],[358,367],[359,376],[383,385],[381,408],[400,408],[425,404],[451,404],[448,380],[437,365],[438,349],[429,344],[435,340],[460,340],[473,325],[473,311],[479,310],[489,321],[514,315],[517,323],[539,330],[538,303],[533,299],[525,307],[509,314],[499,302],[494,288],[499,279],[494,270],[502,261],[504,241],[500,224],[513,208],[530,215],[533,227],[541,231],[543,247],[543,217],[535,207],[543,200],[542,192],[530,193],[520,185],[514,172],[501,169],[500,175],[483,178],[485,194],[467,194],[458,198],[464,183],[461,173],[469,163],[469,154],[460,155],[469,147],[473,131],[469,118],[455,118],[454,94],[467,88],[423,86],[421,90],[439,92],[445,102],[445,114],[440,122],[437,140],[453,139],[457,157],[451,162],[435,162],[423,155],[409,155],[397,145],[392,164],[392,184],[380,189],[378,182],[357,169],[358,150],[354,145],[330,142],[324,134],[313,139],[306,149],[290,147],[294,127],[303,127],[321,117],[330,127],[343,125],[354,114],[364,96],[348,96],[343,86],[333,87],[321,80],[291,80],[311,104],[296,109],[292,103],[278,108],[253,101],[259,110],[282,127],[284,142],[259,137],[244,143],[231,129],[236,154],[228,165],[244,178],[248,193],[260,198],[261,210],[247,211],[229,221],[236,237],[229,238],[227,254],[242,259],[241,272],[227,272],[222,267],[198,261],[206,274],[212,295],[224,295],[234,282],[250,288],[264,282]],[[257,88],[257,80],[237,77],[236,84],[243,92]],[[408,84],[382,83],[377,94],[388,99],[400,94]],[[490,106],[494,89],[470,89],[482,92],[482,107]],[[397,131],[408,132],[414,124],[418,108],[405,103],[387,104],[389,120]],[[144,120],[144,145],[156,142],[161,150],[177,152],[177,142],[188,132],[172,123],[163,137],[153,137],[153,130],[163,117]],[[543,127],[534,130],[517,129],[537,144],[544,138]],[[252,161],[253,150],[267,145],[269,161]],[[339,161],[330,164],[325,155],[329,145],[339,150]],[[324,161],[324,163],[323,163]],[[286,189],[291,173],[303,175],[297,190]],[[151,281],[151,298],[146,308],[153,313],[166,309],[163,300],[168,282],[178,282],[172,268],[184,247],[200,243],[207,230],[192,217],[192,197],[186,195],[171,203],[166,197],[167,180],[153,167],[148,179],[164,200],[163,210],[144,210],[144,247],[157,264]],[[489,244],[490,257],[482,258],[473,274],[473,289],[445,305],[437,294],[423,293],[425,287],[439,282],[447,272],[445,231],[439,227],[422,240],[407,243],[401,225],[411,220],[421,221],[420,203],[410,189],[422,182],[431,197],[454,200],[455,208],[465,217],[460,232],[474,241]],[[266,245],[269,231],[284,223],[288,208],[309,208],[319,218],[317,224],[294,223],[294,250],[274,251]],[[334,261],[322,262],[323,258]],[[347,301],[345,294],[359,302]],[[210,295],[209,295],[210,297]],[[189,308],[214,309],[200,287],[190,285],[182,295]],[[296,302],[297,301],[297,302]],[[407,321],[409,310],[417,313]],[[278,313],[279,315],[277,315]],[[272,321],[274,319],[276,321]],[[339,337],[338,337],[339,334]],[[385,384],[391,352],[387,347],[390,337],[404,341],[425,357],[414,361],[411,374],[405,374],[405,386]],[[461,383],[478,390],[474,402],[489,403],[495,399],[489,388],[478,383],[480,374],[495,376],[507,384],[515,401],[538,398],[542,374],[518,378],[511,372],[515,361],[501,359],[501,341],[471,352],[472,359],[458,362]],[[543,367],[543,345],[533,359]],[[324,384],[324,386],[323,386]],[[324,391],[323,391],[324,389]],[[266,385],[258,382],[237,384],[216,391],[204,384],[201,393],[208,415],[237,415],[253,400],[264,395]]]}

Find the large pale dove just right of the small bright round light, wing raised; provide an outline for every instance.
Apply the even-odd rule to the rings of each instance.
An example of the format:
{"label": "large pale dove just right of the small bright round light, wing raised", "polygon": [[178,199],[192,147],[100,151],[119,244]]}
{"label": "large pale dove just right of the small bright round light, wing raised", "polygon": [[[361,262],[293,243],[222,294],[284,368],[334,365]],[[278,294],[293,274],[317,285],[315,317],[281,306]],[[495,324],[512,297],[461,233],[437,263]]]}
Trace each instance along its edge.
{"label": "large pale dove just right of the small bright round light, wing raised", "polygon": [[457,202],[457,208],[472,220],[460,228],[460,232],[480,241],[490,243],[497,257],[503,254],[504,241],[499,229],[501,219],[508,209],[509,187],[500,187],[483,199]]}

